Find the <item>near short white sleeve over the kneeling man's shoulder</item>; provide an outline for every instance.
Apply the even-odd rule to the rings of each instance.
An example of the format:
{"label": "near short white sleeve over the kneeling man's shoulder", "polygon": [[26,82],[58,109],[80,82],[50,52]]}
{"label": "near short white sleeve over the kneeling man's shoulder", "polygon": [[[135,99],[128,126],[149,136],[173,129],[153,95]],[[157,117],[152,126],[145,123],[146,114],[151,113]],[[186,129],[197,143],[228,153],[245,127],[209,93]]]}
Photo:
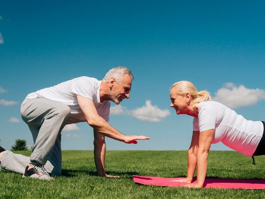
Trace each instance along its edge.
{"label": "near short white sleeve over the kneeling man's shoulder", "polygon": [[72,92],[82,97],[93,100],[93,95],[97,93],[95,82],[86,77],[79,77],[73,80]]}

